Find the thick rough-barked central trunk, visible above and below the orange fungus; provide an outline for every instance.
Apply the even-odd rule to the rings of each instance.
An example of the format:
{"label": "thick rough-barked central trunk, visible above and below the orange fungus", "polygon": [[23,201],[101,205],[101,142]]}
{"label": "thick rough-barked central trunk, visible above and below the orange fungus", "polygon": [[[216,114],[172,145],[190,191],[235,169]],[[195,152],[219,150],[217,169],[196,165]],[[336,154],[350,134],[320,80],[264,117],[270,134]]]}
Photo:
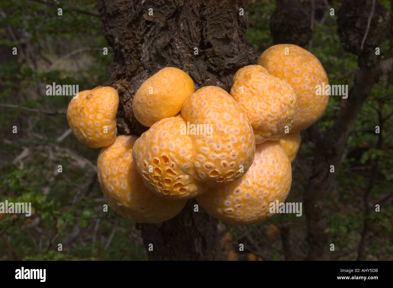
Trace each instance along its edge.
{"label": "thick rough-barked central trunk, visible above and below the orange fungus", "polygon": [[[248,46],[247,15],[242,0],[97,0],[105,37],[114,49],[108,85],[119,91],[118,130],[141,135],[132,98],[140,85],[164,67],[182,69],[195,89],[219,86],[229,92],[234,73],[255,64]],[[195,200],[162,224],[142,224],[149,260],[215,260],[219,258],[217,221]]]}

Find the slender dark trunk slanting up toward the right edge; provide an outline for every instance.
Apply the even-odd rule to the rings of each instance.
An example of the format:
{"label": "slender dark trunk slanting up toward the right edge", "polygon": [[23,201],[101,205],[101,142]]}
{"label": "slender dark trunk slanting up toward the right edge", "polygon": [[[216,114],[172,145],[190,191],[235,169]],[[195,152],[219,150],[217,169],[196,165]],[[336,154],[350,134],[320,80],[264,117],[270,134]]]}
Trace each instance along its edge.
{"label": "slender dark trunk slanting up toward the right edge", "polygon": [[[327,223],[329,211],[326,201],[334,184],[335,175],[346,157],[346,144],[362,105],[379,78],[391,71],[393,59],[381,61],[376,55],[362,55],[358,59],[353,87],[345,107],[340,109],[332,129],[322,135],[318,122],[308,129],[310,140],[315,143],[313,174],[305,189],[304,208],[307,223],[309,253],[306,260],[331,260]],[[332,96],[334,97],[334,96]],[[331,173],[331,165],[334,173]],[[340,247],[335,247],[335,250]]]}

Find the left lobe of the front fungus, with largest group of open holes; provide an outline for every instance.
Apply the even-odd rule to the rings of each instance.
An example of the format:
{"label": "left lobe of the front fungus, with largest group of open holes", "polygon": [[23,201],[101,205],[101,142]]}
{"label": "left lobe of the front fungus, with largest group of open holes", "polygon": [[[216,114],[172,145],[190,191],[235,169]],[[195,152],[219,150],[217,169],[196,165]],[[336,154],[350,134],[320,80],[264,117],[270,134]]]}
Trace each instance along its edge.
{"label": "left lobe of the front fungus, with largest group of open holes", "polygon": [[195,179],[194,146],[181,135],[181,115],[164,118],[136,140],[133,157],[146,186],[167,199],[189,199],[206,188]]}

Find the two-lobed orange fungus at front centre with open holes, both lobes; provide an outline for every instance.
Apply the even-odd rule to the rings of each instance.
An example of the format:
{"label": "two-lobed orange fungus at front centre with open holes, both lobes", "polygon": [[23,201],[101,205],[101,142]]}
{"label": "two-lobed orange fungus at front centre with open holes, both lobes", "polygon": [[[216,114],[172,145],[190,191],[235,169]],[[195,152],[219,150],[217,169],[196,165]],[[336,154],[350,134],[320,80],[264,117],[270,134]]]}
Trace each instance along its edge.
{"label": "two-lobed orange fungus at front centre with open holes, both lobes", "polygon": [[189,199],[239,179],[250,168],[255,151],[251,124],[223,89],[199,89],[181,113],[154,123],[134,144],[136,169],[151,191]]}

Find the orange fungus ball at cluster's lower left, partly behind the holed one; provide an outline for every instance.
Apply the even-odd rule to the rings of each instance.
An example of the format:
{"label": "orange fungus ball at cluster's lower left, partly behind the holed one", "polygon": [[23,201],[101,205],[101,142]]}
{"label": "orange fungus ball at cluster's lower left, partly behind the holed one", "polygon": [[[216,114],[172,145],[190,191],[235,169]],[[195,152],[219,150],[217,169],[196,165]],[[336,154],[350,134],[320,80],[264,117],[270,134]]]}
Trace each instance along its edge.
{"label": "orange fungus ball at cluster's lower left, partly behind the holed one", "polygon": [[136,136],[121,135],[104,147],[97,160],[97,176],[109,206],[139,223],[160,223],[176,216],[184,200],[163,199],[146,188],[132,158]]}

